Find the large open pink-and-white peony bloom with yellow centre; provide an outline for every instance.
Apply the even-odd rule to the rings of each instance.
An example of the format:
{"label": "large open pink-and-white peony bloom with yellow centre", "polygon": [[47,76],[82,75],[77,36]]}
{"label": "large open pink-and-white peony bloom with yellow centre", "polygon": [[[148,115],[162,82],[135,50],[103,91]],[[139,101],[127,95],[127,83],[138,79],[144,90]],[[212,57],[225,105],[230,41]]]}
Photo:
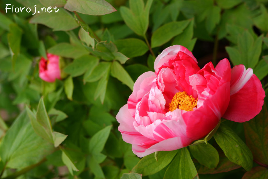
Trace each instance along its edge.
{"label": "large open pink-and-white peony bloom with yellow centre", "polygon": [[183,148],[205,137],[223,117],[245,122],[263,105],[264,90],[251,68],[230,68],[227,59],[202,69],[185,47],[166,48],[155,72],[140,75],[128,103],[118,112],[118,130],[143,157]]}

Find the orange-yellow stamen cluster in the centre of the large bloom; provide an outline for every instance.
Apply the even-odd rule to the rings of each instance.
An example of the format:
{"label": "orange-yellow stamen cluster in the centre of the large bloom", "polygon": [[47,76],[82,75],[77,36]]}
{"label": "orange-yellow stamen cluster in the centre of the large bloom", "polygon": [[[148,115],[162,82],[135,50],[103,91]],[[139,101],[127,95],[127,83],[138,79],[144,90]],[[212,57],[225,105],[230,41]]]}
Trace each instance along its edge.
{"label": "orange-yellow stamen cluster in the centre of the large bloom", "polygon": [[191,95],[187,95],[185,91],[178,92],[173,96],[171,103],[169,103],[169,111],[174,111],[179,108],[184,111],[193,111],[197,106],[197,100]]}

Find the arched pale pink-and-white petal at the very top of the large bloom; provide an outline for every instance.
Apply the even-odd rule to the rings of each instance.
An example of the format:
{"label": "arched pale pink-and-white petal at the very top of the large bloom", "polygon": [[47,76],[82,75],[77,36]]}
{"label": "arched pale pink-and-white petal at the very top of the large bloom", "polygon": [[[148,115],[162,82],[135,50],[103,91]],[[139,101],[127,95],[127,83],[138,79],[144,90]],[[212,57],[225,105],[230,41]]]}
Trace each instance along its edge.
{"label": "arched pale pink-and-white petal at the very top of the large bloom", "polygon": [[164,63],[167,62],[168,58],[163,59],[165,56],[167,56],[167,55],[177,55],[177,53],[179,51],[188,54],[197,63],[196,58],[193,56],[192,52],[190,52],[187,48],[185,48],[184,46],[181,46],[181,45],[173,45],[173,46],[170,46],[170,47],[166,48],[165,50],[163,50],[163,52],[156,57],[156,59],[154,61],[154,70],[155,70],[155,72],[158,73],[159,68]]}

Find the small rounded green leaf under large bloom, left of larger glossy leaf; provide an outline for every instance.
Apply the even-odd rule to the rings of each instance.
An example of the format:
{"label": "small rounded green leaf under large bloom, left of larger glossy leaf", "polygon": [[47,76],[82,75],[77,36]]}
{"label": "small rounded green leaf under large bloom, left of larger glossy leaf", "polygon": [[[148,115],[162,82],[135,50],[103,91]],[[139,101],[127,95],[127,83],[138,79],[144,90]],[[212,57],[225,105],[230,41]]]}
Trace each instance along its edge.
{"label": "small rounded green leaf under large bloom, left of larger glossy leaf", "polygon": [[198,145],[190,145],[191,154],[202,165],[212,169],[216,168],[219,163],[218,151],[209,143],[200,143]]}

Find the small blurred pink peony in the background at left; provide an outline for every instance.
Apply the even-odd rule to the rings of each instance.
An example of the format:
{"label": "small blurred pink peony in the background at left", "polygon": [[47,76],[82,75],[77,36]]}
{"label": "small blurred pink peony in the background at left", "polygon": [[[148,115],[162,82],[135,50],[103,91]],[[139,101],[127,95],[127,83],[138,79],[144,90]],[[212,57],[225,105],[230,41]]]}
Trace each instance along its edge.
{"label": "small blurred pink peony in the background at left", "polygon": [[39,77],[46,82],[54,82],[61,79],[59,68],[59,56],[47,53],[47,60],[44,57],[39,62]]}

